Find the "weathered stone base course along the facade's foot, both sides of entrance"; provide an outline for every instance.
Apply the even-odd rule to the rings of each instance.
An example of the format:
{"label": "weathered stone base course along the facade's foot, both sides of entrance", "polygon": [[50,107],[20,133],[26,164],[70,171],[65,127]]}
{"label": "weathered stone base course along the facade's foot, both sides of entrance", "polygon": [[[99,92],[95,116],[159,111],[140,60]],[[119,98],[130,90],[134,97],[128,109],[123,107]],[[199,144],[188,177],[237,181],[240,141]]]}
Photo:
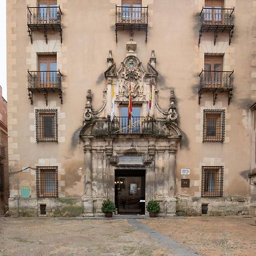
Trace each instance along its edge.
{"label": "weathered stone base course along the facade's foot, both sides of entrance", "polygon": [[[104,216],[101,205],[104,197],[30,198],[9,199],[10,216],[24,217],[75,217]],[[252,214],[254,204],[249,197],[157,197],[160,204],[158,216],[200,216],[202,205],[207,205],[208,216]],[[40,214],[40,205],[46,205],[46,214]],[[146,214],[148,214],[146,212]]]}

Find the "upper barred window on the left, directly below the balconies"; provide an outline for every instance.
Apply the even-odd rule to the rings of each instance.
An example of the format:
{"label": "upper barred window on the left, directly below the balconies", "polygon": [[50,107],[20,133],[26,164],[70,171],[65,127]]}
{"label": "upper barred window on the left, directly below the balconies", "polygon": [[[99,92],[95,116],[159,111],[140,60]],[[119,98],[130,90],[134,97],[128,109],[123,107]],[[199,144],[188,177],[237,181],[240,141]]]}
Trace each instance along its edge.
{"label": "upper barred window on the left, directly below the balconies", "polygon": [[[37,142],[58,142],[57,109],[36,109],[36,141]],[[43,117],[53,117],[53,136],[44,136],[45,123]]]}

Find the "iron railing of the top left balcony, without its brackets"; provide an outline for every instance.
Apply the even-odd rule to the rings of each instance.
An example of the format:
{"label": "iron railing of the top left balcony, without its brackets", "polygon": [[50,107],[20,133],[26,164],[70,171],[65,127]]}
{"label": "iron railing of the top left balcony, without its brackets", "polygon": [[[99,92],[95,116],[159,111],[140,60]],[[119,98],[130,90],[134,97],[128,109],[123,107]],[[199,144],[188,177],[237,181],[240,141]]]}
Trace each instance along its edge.
{"label": "iron railing of the top left balcony, without its brackets", "polygon": [[27,24],[61,24],[60,6],[27,7]]}

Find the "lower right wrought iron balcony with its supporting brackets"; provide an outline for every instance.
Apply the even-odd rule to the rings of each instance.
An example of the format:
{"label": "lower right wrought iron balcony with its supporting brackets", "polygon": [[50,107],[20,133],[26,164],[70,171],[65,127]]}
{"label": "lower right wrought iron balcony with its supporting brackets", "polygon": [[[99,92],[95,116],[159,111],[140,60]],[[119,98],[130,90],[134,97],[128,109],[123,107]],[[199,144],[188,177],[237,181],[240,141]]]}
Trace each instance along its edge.
{"label": "lower right wrought iron balcony with its supporting brackets", "polygon": [[202,70],[199,77],[199,104],[203,92],[213,92],[213,105],[217,99],[217,92],[228,92],[228,104],[230,103],[234,86],[234,71]]}

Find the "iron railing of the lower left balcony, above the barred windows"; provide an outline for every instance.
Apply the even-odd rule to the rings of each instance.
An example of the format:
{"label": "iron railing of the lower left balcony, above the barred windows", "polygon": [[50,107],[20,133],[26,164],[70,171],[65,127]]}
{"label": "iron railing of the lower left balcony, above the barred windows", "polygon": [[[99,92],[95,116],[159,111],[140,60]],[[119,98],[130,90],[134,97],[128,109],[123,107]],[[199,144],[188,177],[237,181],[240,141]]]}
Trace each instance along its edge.
{"label": "iron railing of the lower left balcony, above the barred windows", "polygon": [[60,71],[27,71],[28,89],[61,89]]}

